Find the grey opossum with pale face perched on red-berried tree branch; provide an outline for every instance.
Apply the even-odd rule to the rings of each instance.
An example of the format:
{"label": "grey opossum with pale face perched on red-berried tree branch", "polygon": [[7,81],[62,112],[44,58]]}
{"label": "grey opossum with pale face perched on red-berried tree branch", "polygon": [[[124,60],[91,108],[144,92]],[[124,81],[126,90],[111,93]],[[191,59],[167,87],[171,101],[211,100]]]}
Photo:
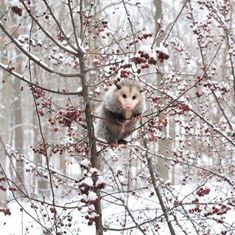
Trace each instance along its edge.
{"label": "grey opossum with pale face perched on red-berried tree branch", "polygon": [[138,117],[145,111],[145,97],[137,82],[123,79],[104,95],[98,108],[96,137],[112,144],[127,143]]}

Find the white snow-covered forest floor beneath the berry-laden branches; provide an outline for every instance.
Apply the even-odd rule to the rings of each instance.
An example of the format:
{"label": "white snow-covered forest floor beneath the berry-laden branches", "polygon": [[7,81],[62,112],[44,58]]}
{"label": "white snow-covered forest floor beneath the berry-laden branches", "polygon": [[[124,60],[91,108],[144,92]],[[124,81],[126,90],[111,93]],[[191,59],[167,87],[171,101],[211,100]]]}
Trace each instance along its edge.
{"label": "white snow-covered forest floor beneath the berry-laden branches", "polygon": [[[211,188],[213,184],[210,184],[210,190],[211,192],[209,195],[206,195],[203,197],[203,201],[205,202],[214,202],[215,200],[223,200],[222,197],[226,195],[226,198],[233,197],[233,192],[230,192],[226,187],[218,187],[218,184],[214,184],[214,188]],[[184,202],[189,202],[193,199],[193,195],[189,194],[190,192],[193,192],[197,188],[197,185],[190,185],[190,186],[178,186],[175,187],[178,199],[182,200],[184,199]],[[176,192],[175,191],[175,192]],[[188,195],[188,196],[187,196]],[[154,210],[150,210],[149,214],[146,215],[146,218],[148,216],[154,217],[154,214],[157,215],[158,210],[160,211],[159,205],[157,200],[154,198],[151,198],[151,200],[145,200],[146,198],[149,198],[149,195],[146,195],[141,198],[131,196],[128,200],[129,208],[134,210],[140,210],[146,207],[149,208],[155,208]],[[45,218],[42,216],[44,213],[48,213],[48,211],[45,210],[45,207],[39,208],[37,210],[34,210],[30,207],[29,203],[21,202],[22,206],[26,209],[27,212],[29,212],[33,217],[40,220],[43,225],[46,225],[50,227],[52,224],[51,221],[48,220],[49,217],[45,216]],[[148,204],[148,205],[147,205]],[[43,235],[42,227],[36,223],[32,217],[27,215],[26,212],[22,212],[20,210],[19,205],[12,201],[8,204],[8,207],[10,208],[11,215],[4,215],[3,213],[0,213],[0,234],[1,235],[26,235],[26,234],[33,234],[33,235]],[[192,205],[189,205],[188,207],[192,207]],[[43,209],[44,208],[44,209]],[[187,205],[185,206],[187,208]],[[68,211],[63,212],[61,211],[60,216],[63,217],[63,213],[65,215],[64,218],[64,227],[63,227],[63,234],[73,234],[73,235],[95,235],[94,226],[88,226],[86,220],[84,219],[84,214],[77,210],[70,211],[72,220],[69,221],[68,219]],[[141,212],[142,213],[142,212]],[[103,218],[106,221],[106,225],[108,225],[108,222],[110,222],[110,227],[112,228],[120,228],[119,219],[123,217],[125,214],[125,211],[123,207],[114,205],[114,204],[104,204],[103,209]],[[181,226],[183,227],[184,231],[186,233],[182,232],[182,228],[180,229],[179,226],[174,225],[174,229],[176,230],[177,235],[183,235],[183,234],[190,234],[194,235],[195,230],[192,229],[191,222],[184,216],[184,213],[181,213],[180,211],[175,212],[175,215],[177,216],[178,221],[180,222]],[[198,222],[200,222],[200,218],[198,215],[195,215],[193,219],[196,221],[198,219]],[[235,210],[232,208],[227,212],[226,215],[224,215],[226,218],[224,219],[224,223],[220,224],[216,222],[213,219],[208,219],[208,221],[204,224],[206,224],[209,229],[211,230],[210,234],[221,234],[221,231],[224,231],[224,228],[227,227],[227,233],[226,235],[232,235],[235,234],[234,230],[231,230],[231,228],[235,227]],[[191,218],[192,218],[191,217]],[[214,217],[215,218],[215,217]],[[143,218],[142,218],[143,219]],[[140,218],[141,220],[141,218]],[[138,221],[140,222],[140,221]],[[128,220],[126,222],[126,226],[132,226],[133,223],[128,224]],[[55,233],[51,233],[55,234]],[[133,231],[126,231],[126,232],[114,232],[114,231],[107,231],[105,232],[105,235],[127,235],[127,234],[133,234],[133,235],[139,235],[143,234],[138,232],[137,230]],[[152,235],[152,234],[165,234],[168,235],[169,230],[166,227],[166,225],[162,224],[162,226],[159,228],[157,232],[149,230],[146,232],[146,234]],[[202,233],[199,233],[202,234]]]}

